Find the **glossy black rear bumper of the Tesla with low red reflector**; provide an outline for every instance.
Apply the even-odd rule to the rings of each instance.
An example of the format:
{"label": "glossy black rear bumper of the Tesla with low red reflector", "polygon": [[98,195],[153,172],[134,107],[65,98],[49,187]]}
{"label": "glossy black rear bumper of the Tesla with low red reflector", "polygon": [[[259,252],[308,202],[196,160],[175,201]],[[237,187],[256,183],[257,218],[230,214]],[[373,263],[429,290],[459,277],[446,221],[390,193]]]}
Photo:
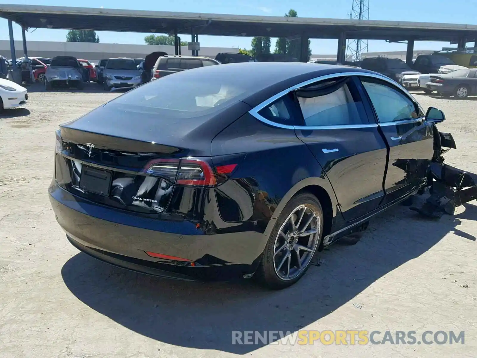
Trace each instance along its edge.
{"label": "glossy black rear bumper of the Tesla with low red reflector", "polygon": [[[164,221],[96,205],[54,183],[50,201],[70,242],[104,262],[187,280],[232,280],[255,272],[267,237],[254,231],[206,235],[189,221]],[[189,262],[157,259],[145,252]]]}

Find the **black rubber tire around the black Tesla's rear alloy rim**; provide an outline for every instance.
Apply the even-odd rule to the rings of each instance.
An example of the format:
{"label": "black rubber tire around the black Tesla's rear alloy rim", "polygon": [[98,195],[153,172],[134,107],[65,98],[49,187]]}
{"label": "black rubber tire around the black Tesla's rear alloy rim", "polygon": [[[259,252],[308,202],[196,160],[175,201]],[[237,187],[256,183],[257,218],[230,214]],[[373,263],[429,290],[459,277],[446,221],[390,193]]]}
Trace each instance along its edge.
{"label": "black rubber tire around the black Tesla's rear alloy rim", "polygon": [[[296,269],[297,272],[295,273],[294,276],[290,279],[283,279],[281,278],[278,274],[277,271],[280,271],[280,266],[278,267],[278,270],[275,269],[275,243],[278,243],[277,237],[279,236],[280,230],[282,227],[284,228],[287,223],[289,223],[289,216],[294,213],[294,211],[298,210],[299,208],[305,208],[307,210],[314,213],[316,215],[316,218],[318,219],[317,222],[319,225],[317,225],[317,233],[314,237],[314,241],[312,242],[312,251],[311,252],[304,252],[301,258],[305,258],[305,254],[307,255],[305,260],[306,263],[302,265],[302,267],[299,269],[298,266],[294,266],[293,269]],[[297,211],[298,212],[298,211]],[[311,216],[311,215],[310,215]],[[293,219],[292,219],[293,220]],[[298,229],[300,229],[298,225]],[[306,229],[306,228],[304,228]],[[296,231],[295,231],[296,232]],[[281,212],[277,222],[275,223],[275,226],[273,230],[270,232],[269,240],[267,242],[267,245],[265,246],[265,250],[262,253],[262,257],[259,263],[259,267],[257,268],[257,271],[255,272],[256,278],[264,285],[268,286],[271,289],[282,289],[285,287],[289,287],[292,284],[296,283],[300,278],[306,273],[308,268],[310,267],[312,257],[316,253],[317,248],[321,244],[322,240],[322,233],[323,233],[323,210],[321,209],[321,204],[320,201],[311,193],[304,192],[301,194],[298,194],[294,196],[285,206],[283,211]],[[282,237],[280,235],[280,237]],[[306,237],[305,237],[306,240]],[[297,244],[301,244],[297,241],[295,241]],[[286,244],[286,242],[285,242]],[[311,248],[310,248],[311,249]],[[288,249],[284,249],[286,251]],[[277,250],[277,253],[282,252],[282,250]],[[290,248],[290,262],[291,262],[291,255],[292,255],[292,249]],[[296,252],[294,252],[296,254]],[[298,253],[300,255],[300,253]],[[299,256],[300,257],[300,256]],[[281,257],[279,257],[280,259]],[[296,260],[296,256],[295,256]],[[288,269],[290,274],[290,269]]]}

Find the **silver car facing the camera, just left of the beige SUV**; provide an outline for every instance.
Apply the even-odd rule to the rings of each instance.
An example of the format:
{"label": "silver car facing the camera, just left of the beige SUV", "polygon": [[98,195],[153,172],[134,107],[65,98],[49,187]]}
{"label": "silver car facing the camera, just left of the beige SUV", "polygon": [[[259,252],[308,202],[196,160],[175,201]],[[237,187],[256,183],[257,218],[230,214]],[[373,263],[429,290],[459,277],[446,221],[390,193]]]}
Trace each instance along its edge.
{"label": "silver car facing the camera, just left of the beige SUV", "polygon": [[103,72],[104,89],[130,89],[142,84],[141,71],[132,58],[110,58]]}

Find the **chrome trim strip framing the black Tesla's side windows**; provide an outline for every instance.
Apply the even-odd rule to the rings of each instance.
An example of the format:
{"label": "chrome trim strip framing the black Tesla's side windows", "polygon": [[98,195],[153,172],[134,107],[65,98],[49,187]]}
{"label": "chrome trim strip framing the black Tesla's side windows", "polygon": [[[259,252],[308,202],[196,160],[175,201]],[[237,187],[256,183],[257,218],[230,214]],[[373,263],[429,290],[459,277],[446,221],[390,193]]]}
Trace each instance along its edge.
{"label": "chrome trim strip framing the black Tesla's side windows", "polygon": [[[407,95],[408,98],[413,103],[417,103],[417,101],[414,99],[414,97],[403,86],[400,86],[397,82],[393,81],[392,79],[390,79],[390,78],[388,78],[388,77],[386,77],[382,74],[370,74],[370,73],[367,73],[367,72],[337,72],[337,73],[334,73],[334,74],[326,74],[326,75],[323,75],[323,76],[315,77],[315,78],[312,78],[311,80],[307,80],[307,81],[301,82],[299,84],[295,84],[295,85],[287,88],[286,90],[283,90],[283,91],[277,93],[276,95],[271,96],[269,99],[263,101],[259,105],[256,105],[255,107],[253,107],[252,109],[249,110],[249,114],[254,116],[255,118],[257,118],[259,121],[261,121],[265,124],[268,124],[269,126],[279,127],[279,128],[283,128],[283,129],[300,129],[300,130],[371,128],[371,127],[377,127],[378,125],[391,126],[391,125],[396,125],[396,124],[404,124],[404,123],[401,123],[401,122],[407,122],[407,121],[389,122],[389,124],[387,124],[387,123],[379,123],[379,124],[378,123],[369,123],[369,124],[357,124],[357,125],[346,124],[346,125],[336,125],[336,126],[290,126],[290,125],[285,125],[285,124],[280,124],[280,123],[270,121],[269,119],[259,115],[259,111],[261,111],[267,105],[270,105],[271,103],[275,102],[280,97],[290,93],[291,91],[294,91],[294,90],[296,90],[300,87],[303,87],[303,86],[307,86],[309,84],[313,84],[313,83],[318,82],[318,81],[324,81],[324,80],[328,80],[328,79],[331,79],[331,78],[343,77],[343,76],[373,77],[373,78],[377,78],[377,79],[386,81],[386,82],[394,85],[395,87],[399,88],[402,92],[404,92],[404,94]],[[419,105],[419,104],[417,104],[417,105]],[[421,119],[422,118],[419,118],[418,120],[421,120]],[[414,121],[417,121],[417,120],[413,119],[412,122],[414,122]],[[412,122],[410,122],[410,123],[412,123]]]}

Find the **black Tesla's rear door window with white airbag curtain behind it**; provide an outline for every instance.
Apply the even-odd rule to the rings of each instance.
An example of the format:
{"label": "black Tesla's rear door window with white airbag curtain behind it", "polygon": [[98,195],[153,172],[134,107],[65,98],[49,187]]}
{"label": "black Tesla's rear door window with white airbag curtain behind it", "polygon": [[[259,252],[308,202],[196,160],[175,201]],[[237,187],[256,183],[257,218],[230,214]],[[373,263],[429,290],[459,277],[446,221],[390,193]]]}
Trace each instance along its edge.
{"label": "black Tesla's rear door window with white airbag curtain behind it", "polygon": [[322,81],[296,91],[305,126],[367,124],[364,106],[351,78]]}

